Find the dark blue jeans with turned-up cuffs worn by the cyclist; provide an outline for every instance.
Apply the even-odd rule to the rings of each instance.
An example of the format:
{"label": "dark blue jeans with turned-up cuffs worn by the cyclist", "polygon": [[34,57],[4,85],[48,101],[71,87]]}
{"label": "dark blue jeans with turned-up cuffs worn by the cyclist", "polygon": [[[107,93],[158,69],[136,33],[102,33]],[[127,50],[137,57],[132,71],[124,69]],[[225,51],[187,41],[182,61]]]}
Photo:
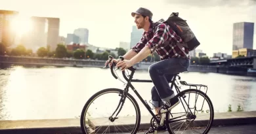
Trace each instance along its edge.
{"label": "dark blue jeans with turned-up cuffs worn by the cyclist", "polygon": [[151,90],[154,107],[161,107],[163,101],[169,101],[175,96],[169,82],[174,74],[187,71],[189,65],[190,59],[186,58],[164,59],[150,65],[148,72],[154,84]]}

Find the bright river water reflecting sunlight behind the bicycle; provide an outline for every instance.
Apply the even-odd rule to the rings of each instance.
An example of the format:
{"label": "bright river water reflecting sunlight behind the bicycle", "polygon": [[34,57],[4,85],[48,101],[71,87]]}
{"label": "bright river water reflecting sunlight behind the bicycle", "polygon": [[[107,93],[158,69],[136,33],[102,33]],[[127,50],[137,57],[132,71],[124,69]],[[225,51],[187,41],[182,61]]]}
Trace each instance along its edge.
{"label": "bright river water reflecting sunlight behind the bicycle", "polygon": [[[121,77],[121,71],[117,74]],[[256,78],[217,73],[181,73],[181,80],[206,84],[215,112],[256,110]],[[147,71],[135,78],[150,79]],[[121,77],[122,80],[123,77]],[[151,100],[152,83],[133,84],[142,98]],[[0,69],[0,120],[33,120],[78,117],[87,99],[104,88],[124,88],[110,69],[93,67],[22,67]],[[132,90],[130,93],[135,96]],[[137,99],[139,100],[139,99]],[[139,102],[142,106],[142,103]],[[142,106],[142,115],[149,112]]]}

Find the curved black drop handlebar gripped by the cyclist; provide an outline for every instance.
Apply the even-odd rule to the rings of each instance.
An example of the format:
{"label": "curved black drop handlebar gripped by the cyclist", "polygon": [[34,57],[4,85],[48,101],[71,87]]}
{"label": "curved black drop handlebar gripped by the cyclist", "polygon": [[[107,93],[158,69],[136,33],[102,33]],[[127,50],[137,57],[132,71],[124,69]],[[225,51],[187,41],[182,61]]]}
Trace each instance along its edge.
{"label": "curved black drop handlebar gripped by the cyclist", "polygon": [[[110,63],[112,60],[113,60],[114,58],[112,57],[112,56],[108,56],[108,62],[106,63],[106,65],[105,65],[105,67],[104,68],[106,68],[107,66],[108,66],[108,63]],[[121,61],[123,61],[123,56],[119,56],[119,59],[121,59]],[[114,73],[114,66],[116,66],[116,63],[112,63],[112,65],[110,66],[110,71],[111,71],[111,73],[112,73],[112,75],[114,76],[114,78],[116,78],[117,79],[117,76],[115,75],[115,73]],[[118,67],[118,69],[119,69],[119,67]],[[127,68],[127,69],[129,69],[130,71],[132,71],[133,73],[135,72],[135,68],[133,68],[133,67],[129,67],[129,68]],[[125,78],[125,80],[129,80],[129,78],[127,78],[127,76],[125,75],[125,71],[122,71],[122,74],[123,74],[123,78]]]}

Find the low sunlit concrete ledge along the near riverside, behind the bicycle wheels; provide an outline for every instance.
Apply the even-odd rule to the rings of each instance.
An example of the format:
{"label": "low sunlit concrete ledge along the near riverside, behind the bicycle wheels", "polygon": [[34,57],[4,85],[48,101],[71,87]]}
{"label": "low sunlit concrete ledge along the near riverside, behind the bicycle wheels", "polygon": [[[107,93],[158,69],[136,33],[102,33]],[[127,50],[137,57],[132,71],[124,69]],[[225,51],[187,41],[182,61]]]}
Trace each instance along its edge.
{"label": "low sunlit concrete ledge along the near riverside, behind the bicycle wheels", "polygon": [[[150,116],[142,116],[139,130],[150,127]],[[124,126],[131,124],[129,120],[123,120]],[[96,120],[92,123],[98,127]],[[202,122],[203,123],[203,122]],[[213,127],[234,126],[256,124],[256,111],[250,112],[221,112],[215,113]],[[205,124],[204,124],[205,125]],[[119,127],[120,131],[125,131],[125,127]],[[5,120],[0,121],[0,133],[81,133],[80,120],[60,119],[60,120]]]}

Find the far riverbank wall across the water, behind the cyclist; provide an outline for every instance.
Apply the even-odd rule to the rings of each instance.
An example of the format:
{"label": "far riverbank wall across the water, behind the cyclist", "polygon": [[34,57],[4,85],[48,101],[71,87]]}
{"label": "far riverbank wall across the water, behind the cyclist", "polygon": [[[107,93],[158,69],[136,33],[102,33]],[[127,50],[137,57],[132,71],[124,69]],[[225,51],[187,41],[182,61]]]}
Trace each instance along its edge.
{"label": "far riverbank wall across the water, behind the cyclist", "polygon": [[[55,67],[104,67],[106,61],[94,59],[59,59],[59,58],[32,58],[20,56],[0,56],[0,67],[10,65],[22,66],[55,66]],[[140,62],[135,64],[137,70],[148,70],[155,62]],[[224,65],[190,65],[188,72],[223,73],[228,75],[256,76],[256,71],[239,66],[226,67]]]}

